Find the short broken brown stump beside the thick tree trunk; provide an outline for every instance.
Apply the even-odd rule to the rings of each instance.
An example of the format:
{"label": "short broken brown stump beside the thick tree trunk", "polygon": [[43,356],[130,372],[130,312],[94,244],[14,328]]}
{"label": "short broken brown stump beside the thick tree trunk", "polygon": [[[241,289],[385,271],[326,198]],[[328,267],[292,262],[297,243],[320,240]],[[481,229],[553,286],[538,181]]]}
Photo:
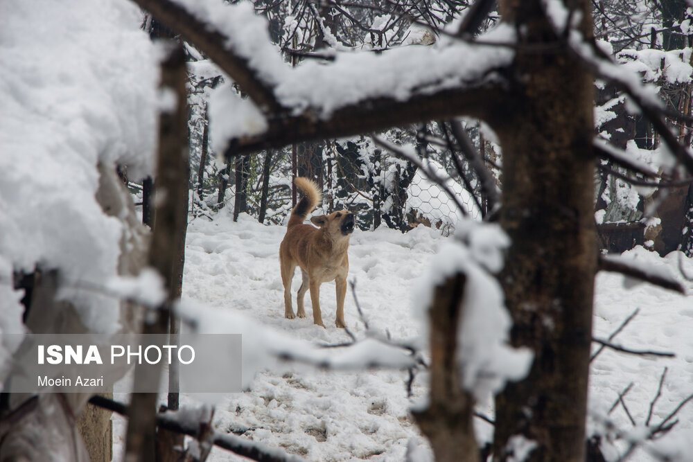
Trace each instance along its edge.
{"label": "short broken brown stump beside the thick tree trunk", "polygon": [[414,412],[436,462],[478,462],[474,436],[474,400],[462,388],[457,366],[457,329],[464,307],[464,274],[435,288],[430,318],[430,395],[428,408]]}

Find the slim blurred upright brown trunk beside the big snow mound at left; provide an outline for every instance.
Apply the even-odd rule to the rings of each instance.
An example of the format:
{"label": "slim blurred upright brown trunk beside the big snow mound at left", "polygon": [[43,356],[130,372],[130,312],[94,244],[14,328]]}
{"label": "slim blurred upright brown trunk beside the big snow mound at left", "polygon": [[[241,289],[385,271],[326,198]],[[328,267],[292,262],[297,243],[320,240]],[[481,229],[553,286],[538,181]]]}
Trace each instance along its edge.
{"label": "slim blurred upright brown trunk beside the big snow mound at left", "polygon": [[[150,265],[164,278],[169,296],[157,310],[157,319],[145,323],[143,333],[162,334],[169,331],[170,304],[175,296],[173,277],[182,269],[181,242],[187,224],[188,206],[188,140],[185,53],[177,46],[161,64],[161,87],[173,89],[178,96],[175,112],[161,113],[159,126],[159,159],[157,188],[165,193],[157,201],[156,222],[152,229]],[[182,231],[183,230],[183,231]],[[182,236],[181,236],[181,233]],[[136,368],[135,381],[141,379],[142,370]],[[157,375],[161,370],[156,371]],[[158,377],[150,377],[157,383]],[[130,402],[130,421],[125,443],[125,460],[150,462],[175,460],[173,451],[159,454],[155,459],[157,393],[133,393]],[[162,434],[162,436],[164,436]],[[159,446],[161,447],[161,445]]]}

